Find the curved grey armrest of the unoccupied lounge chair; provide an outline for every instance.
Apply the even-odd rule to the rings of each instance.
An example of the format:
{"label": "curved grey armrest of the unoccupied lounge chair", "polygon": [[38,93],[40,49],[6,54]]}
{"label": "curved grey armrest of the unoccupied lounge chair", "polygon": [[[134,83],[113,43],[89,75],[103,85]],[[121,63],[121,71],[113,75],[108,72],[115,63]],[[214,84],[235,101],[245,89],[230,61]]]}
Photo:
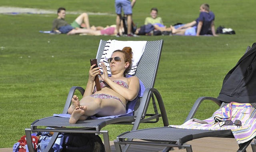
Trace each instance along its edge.
{"label": "curved grey armrest of the unoccupied lounge chair", "polygon": [[218,106],[221,106],[222,102],[220,100],[218,100],[217,98],[213,98],[213,97],[206,97],[206,96],[203,96],[203,97],[200,97],[196,100],[196,102],[194,103],[194,105],[192,106],[186,120],[190,120],[194,117],[194,115],[196,114],[196,111],[197,109],[199,108],[200,104],[204,101],[204,100],[211,100],[213,102],[215,102],[216,104],[218,104]]}

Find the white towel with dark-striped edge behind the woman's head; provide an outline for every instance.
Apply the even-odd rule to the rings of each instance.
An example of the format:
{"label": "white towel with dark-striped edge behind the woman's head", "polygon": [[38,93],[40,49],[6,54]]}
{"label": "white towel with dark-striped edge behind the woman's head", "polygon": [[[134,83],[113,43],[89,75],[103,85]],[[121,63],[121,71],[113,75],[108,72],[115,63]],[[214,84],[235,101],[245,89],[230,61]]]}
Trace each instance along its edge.
{"label": "white towel with dark-striped edge behind the woman's head", "polygon": [[[138,62],[140,61],[140,58],[145,50],[147,41],[118,41],[118,40],[108,40],[103,54],[102,58],[100,59],[100,62],[104,62],[107,66],[108,74],[111,74],[110,67],[108,64],[108,58],[111,57],[112,53],[115,50],[122,50],[124,47],[129,46],[132,48],[133,58],[132,58],[132,67],[128,73],[128,75],[133,76],[137,70]],[[100,69],[101,70],[101,69]],[[102,70],[101,70],[102,71]]]}

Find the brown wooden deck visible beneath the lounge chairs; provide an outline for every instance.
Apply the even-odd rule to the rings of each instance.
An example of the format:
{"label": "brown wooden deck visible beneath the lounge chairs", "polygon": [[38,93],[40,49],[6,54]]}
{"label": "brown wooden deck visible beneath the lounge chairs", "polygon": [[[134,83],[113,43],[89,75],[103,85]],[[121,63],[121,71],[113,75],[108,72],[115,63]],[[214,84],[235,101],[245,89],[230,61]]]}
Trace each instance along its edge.
{"label": "brown wooden deck visible beneath the lounge chairs", "polygon": [[[238,144],[234,138],[200,138],[188,142],[192,145],[193,152],[236,152]],[[111,151],[116,152],[114,142],[110,142]],[[163,147],[131,145],[128,152],[159,152]],[[186,152],[185,149],[174,148],[173,152]],[[12,148],[0,148],[0,152],[12,152]],[[252,152],[251,145],[246,152]]]}

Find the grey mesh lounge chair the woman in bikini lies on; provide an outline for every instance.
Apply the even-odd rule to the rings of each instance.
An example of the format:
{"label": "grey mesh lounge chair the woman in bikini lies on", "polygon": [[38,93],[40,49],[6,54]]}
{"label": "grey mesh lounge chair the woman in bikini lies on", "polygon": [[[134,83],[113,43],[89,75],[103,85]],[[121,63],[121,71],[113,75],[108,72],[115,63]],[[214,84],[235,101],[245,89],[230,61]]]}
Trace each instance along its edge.
{"label": "grey mesh lounge chair the woman in bikini lies on", "polygon": [[[132,41],[130,42],[132,43]],[[100,40],[96,56],[98,62],[100,62],[106,43],[106,40]],[[159,118],[162,116],[164,126],[168,126],[168,118],[162,98],[159,92],[153,88],[158,70],[158,64],[160,61],[162,45],[163,40],[146,42],[144,53],[138,62],[138,67],[135,73],[135,76],[137,76],[143,82],[146,90],[144,91],[143,97],[138,98],[134,107],[133,116],[122,116],[118,118],[107,119],[87,119],[84,121],[78,121],[76,124],[69,124],[69,118],[62,118],[57,116],[50,116],[36,120],[31,124],[30,128],[25,129],[29,151],[33,151],[31,138],[29,138],[31,136],[31,132],[56,132],[54,133],[52,140],[48,144],[48,147],[45,151],[50,150],[59,132],[103,134],[105,150],[106,152],[110,152],[108,130],[102,130],[102,128],[106,125],[132,124],[133,127],[131,130],[137,130],[140,123],[155,123],[158,122]],[[67,114],[75,90],[79,90],[81,94],[84,94],[83,88],[72,87],[68,94],[68,98],[66,100],[62,114]],[[152,108],[154,109],[154,112],[148,113],[147,110],[149,107],[149,102],[151,101],[153,102]],[[156,101],[158,102],[158,106]],[[158,113],[158,108],[160,109],[160,113]],[[42,126],[44,128],[45,126],[48,126],[54,129],[40,129]]]}

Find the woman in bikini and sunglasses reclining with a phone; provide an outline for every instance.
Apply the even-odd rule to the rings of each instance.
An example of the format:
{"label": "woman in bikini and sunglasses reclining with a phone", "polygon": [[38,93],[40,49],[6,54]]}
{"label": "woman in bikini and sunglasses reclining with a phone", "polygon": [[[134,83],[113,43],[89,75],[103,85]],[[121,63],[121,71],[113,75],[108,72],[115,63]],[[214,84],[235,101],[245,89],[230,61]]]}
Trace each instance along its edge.
{"label": "woman in bikini and sunglasses reclining with a phone", "polygon": [[[106,65],[101,62],[103,74],[99,68],[89,70],[89,79],[83,98],[79,101],[76,95],[72,98],[72,105],[68,109],[71,114],[69,123],[75,124],[78,120],[86,120],[89,116],[112,116],[126,113],[126,104],[134,100],[139,92],[140,83],[136,76],[126,78],[132,66],[132,48],[125,47],[116,50],[108,58],[111,77],[108,76]],[[102,90],[97,91],[94,79],[100,74]]]}

